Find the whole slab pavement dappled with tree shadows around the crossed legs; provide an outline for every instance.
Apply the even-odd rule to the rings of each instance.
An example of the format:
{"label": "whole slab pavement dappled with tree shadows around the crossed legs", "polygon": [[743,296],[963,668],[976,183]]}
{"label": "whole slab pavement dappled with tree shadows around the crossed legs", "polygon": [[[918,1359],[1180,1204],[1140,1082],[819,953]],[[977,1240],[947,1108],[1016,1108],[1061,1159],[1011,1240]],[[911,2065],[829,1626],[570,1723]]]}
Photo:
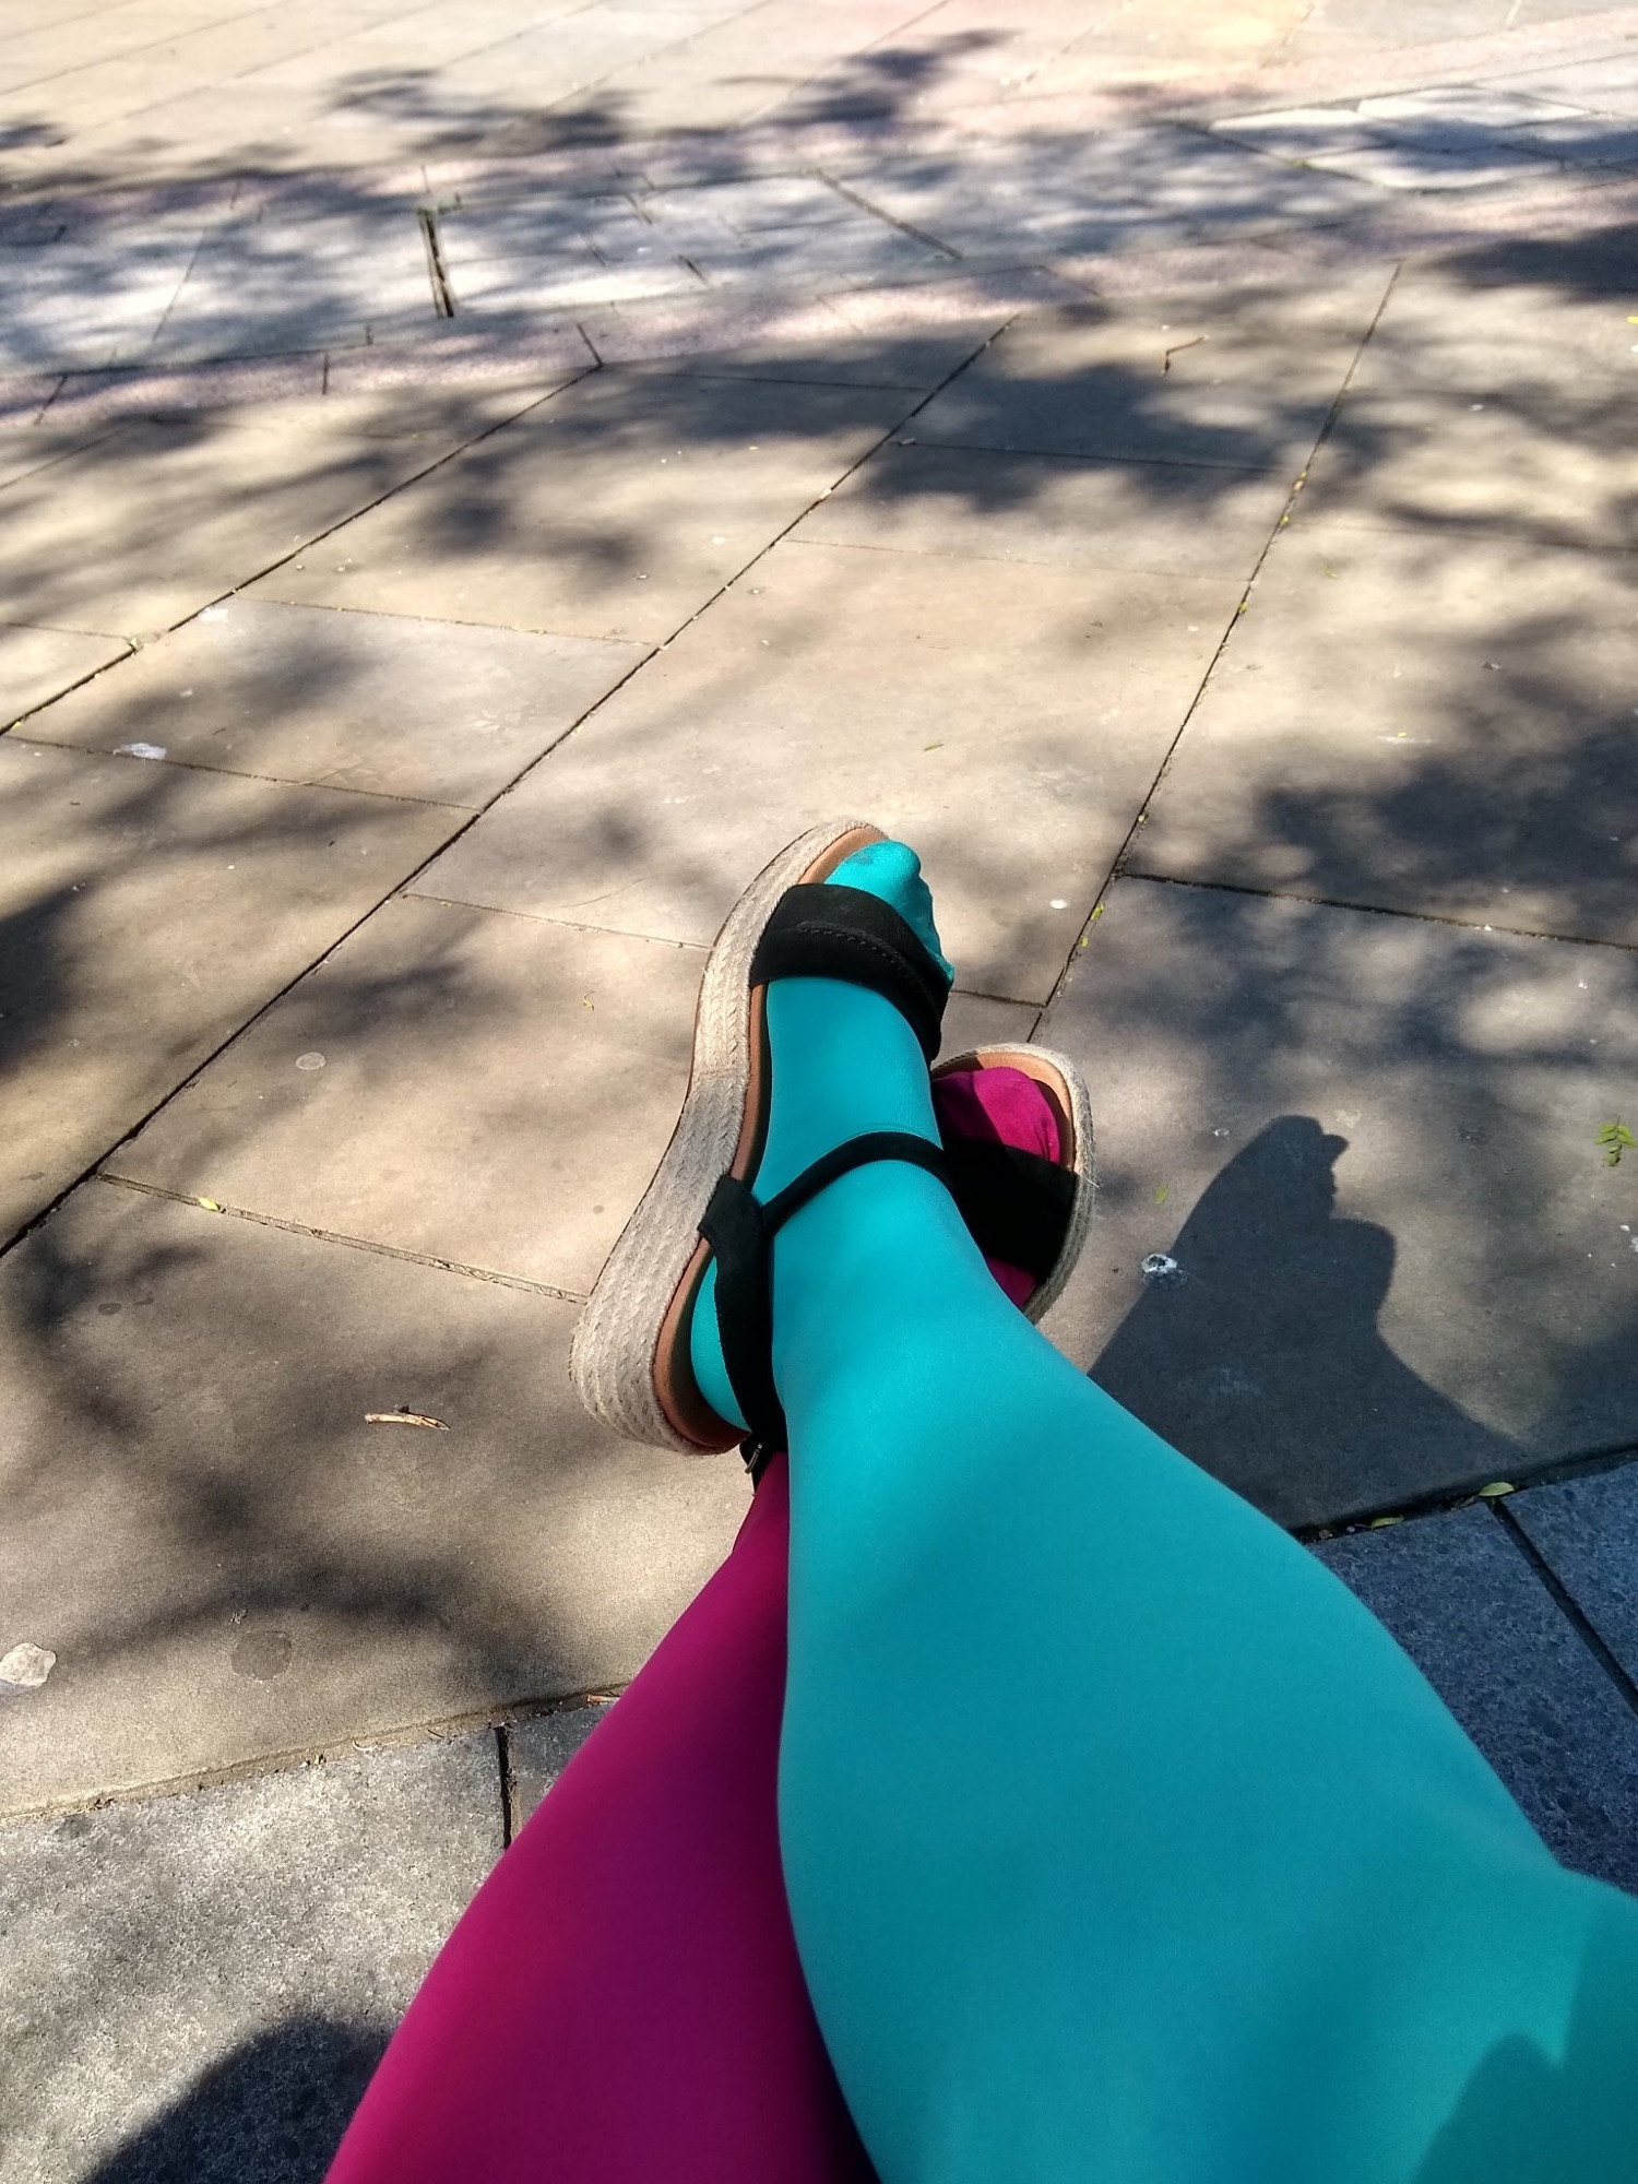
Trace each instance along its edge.
{"label": "whole slab pavement dappled with tree shadows around the crossed legs", "polygon": [[721,1559],[566,1350],[839,810],[1048,1332],[1638,1887],[1636,234],[1638,9],[13,11],[0,2184],[317,2180]]}

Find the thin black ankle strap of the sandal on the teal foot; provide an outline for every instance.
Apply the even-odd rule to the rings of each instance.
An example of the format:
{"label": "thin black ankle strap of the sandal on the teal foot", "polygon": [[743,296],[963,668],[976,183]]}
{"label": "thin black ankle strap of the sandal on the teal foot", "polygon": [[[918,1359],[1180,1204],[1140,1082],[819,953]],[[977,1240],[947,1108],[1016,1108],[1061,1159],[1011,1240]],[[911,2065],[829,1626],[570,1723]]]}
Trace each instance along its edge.
{"label": "thin black ankle strap of the sandal on the teal foot", "polygon": [[716,1332],[727,1385],[749,1426],[745,1461],[756,1476],[775,1448],[786,1448],[784,1404],[773,1385],[773,1238],[791,1214],[819,1192],[878,1160],[926,1168],[946,1188],[948,1162],[937,1144],[900,1129],[874,1129],[821,1153],[767,1206],[736,1175],[723,1175],[701,1214],[699,1234],[716,1256]]}

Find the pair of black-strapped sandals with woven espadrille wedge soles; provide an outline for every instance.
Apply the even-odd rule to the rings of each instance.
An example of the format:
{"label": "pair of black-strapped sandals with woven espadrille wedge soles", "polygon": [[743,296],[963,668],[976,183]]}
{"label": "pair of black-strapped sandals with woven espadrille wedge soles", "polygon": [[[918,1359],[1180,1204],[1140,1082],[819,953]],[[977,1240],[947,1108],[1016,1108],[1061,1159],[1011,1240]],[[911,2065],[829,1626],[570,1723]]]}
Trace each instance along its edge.
{"label": "pair of black-strapped sandals with woven espadrille wedge soles", "polygon": [[[1011,1066],[1033,1077],[1055,1112],[1057,1162],[985,1140],[954,1140],[948,1158],[924,1138],[874,1131],[826,1153],[767,1203],[749,1188],[767,1123],[762,998],[773,978],[871,987],[900,1009],[922,1053],[937,1053],[948,992],[939,965],[887,902],[823,885],[874,841],[882,841],[880,830],[858,821],[812,828],[751,882],[712,948],[677,1129],[609,1254],[572,1350],[583,1404],[631,1439],[684,1450],[743,1439],[753,1470],[784,1446],[771,1367],[771,1243],[799,1206],[867,1162],[902,1160],[939,1175],[981,1249],[1035,1278],[1031,1317],[1046,1310],[1075,1265],[1090,1214],[1090,1192],[1079,1188],[1092,1144],[1085,1090],[1070,1064],[1042,1048],[983,1048],[946,1070]],[[688,1326],[712,1256],[723,1361],[749,1435],[705,1404],[688,1365]]]}

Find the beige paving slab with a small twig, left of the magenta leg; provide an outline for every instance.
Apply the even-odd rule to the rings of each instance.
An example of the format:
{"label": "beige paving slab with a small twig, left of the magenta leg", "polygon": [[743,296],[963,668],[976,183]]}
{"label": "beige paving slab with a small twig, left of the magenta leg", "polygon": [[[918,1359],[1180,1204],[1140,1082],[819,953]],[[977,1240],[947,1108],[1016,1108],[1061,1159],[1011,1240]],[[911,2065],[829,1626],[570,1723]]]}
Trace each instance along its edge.
{"label": "beige paving slab with a small twig, left of the magenta leg", "polygon": [[[574,1306],[96,1182],[0,1262],[0,1811],[609,1690],[745,1470],[596,1428]],[[376,1424],[369,1413],[448,1431]]]}

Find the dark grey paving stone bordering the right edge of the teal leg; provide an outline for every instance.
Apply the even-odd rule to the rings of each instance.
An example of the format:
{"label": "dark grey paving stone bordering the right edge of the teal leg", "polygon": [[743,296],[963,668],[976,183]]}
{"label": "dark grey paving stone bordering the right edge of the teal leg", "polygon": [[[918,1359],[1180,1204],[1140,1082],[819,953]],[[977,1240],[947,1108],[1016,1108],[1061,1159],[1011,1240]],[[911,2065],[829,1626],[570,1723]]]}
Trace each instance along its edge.
{"label": "dark grey paving stone bordering the right edge of the teal leg", "polygon": [[1638,1714],[1483,1505],[1315,1553],[1387,1625],[1577,1872],[1638,1889]]}

